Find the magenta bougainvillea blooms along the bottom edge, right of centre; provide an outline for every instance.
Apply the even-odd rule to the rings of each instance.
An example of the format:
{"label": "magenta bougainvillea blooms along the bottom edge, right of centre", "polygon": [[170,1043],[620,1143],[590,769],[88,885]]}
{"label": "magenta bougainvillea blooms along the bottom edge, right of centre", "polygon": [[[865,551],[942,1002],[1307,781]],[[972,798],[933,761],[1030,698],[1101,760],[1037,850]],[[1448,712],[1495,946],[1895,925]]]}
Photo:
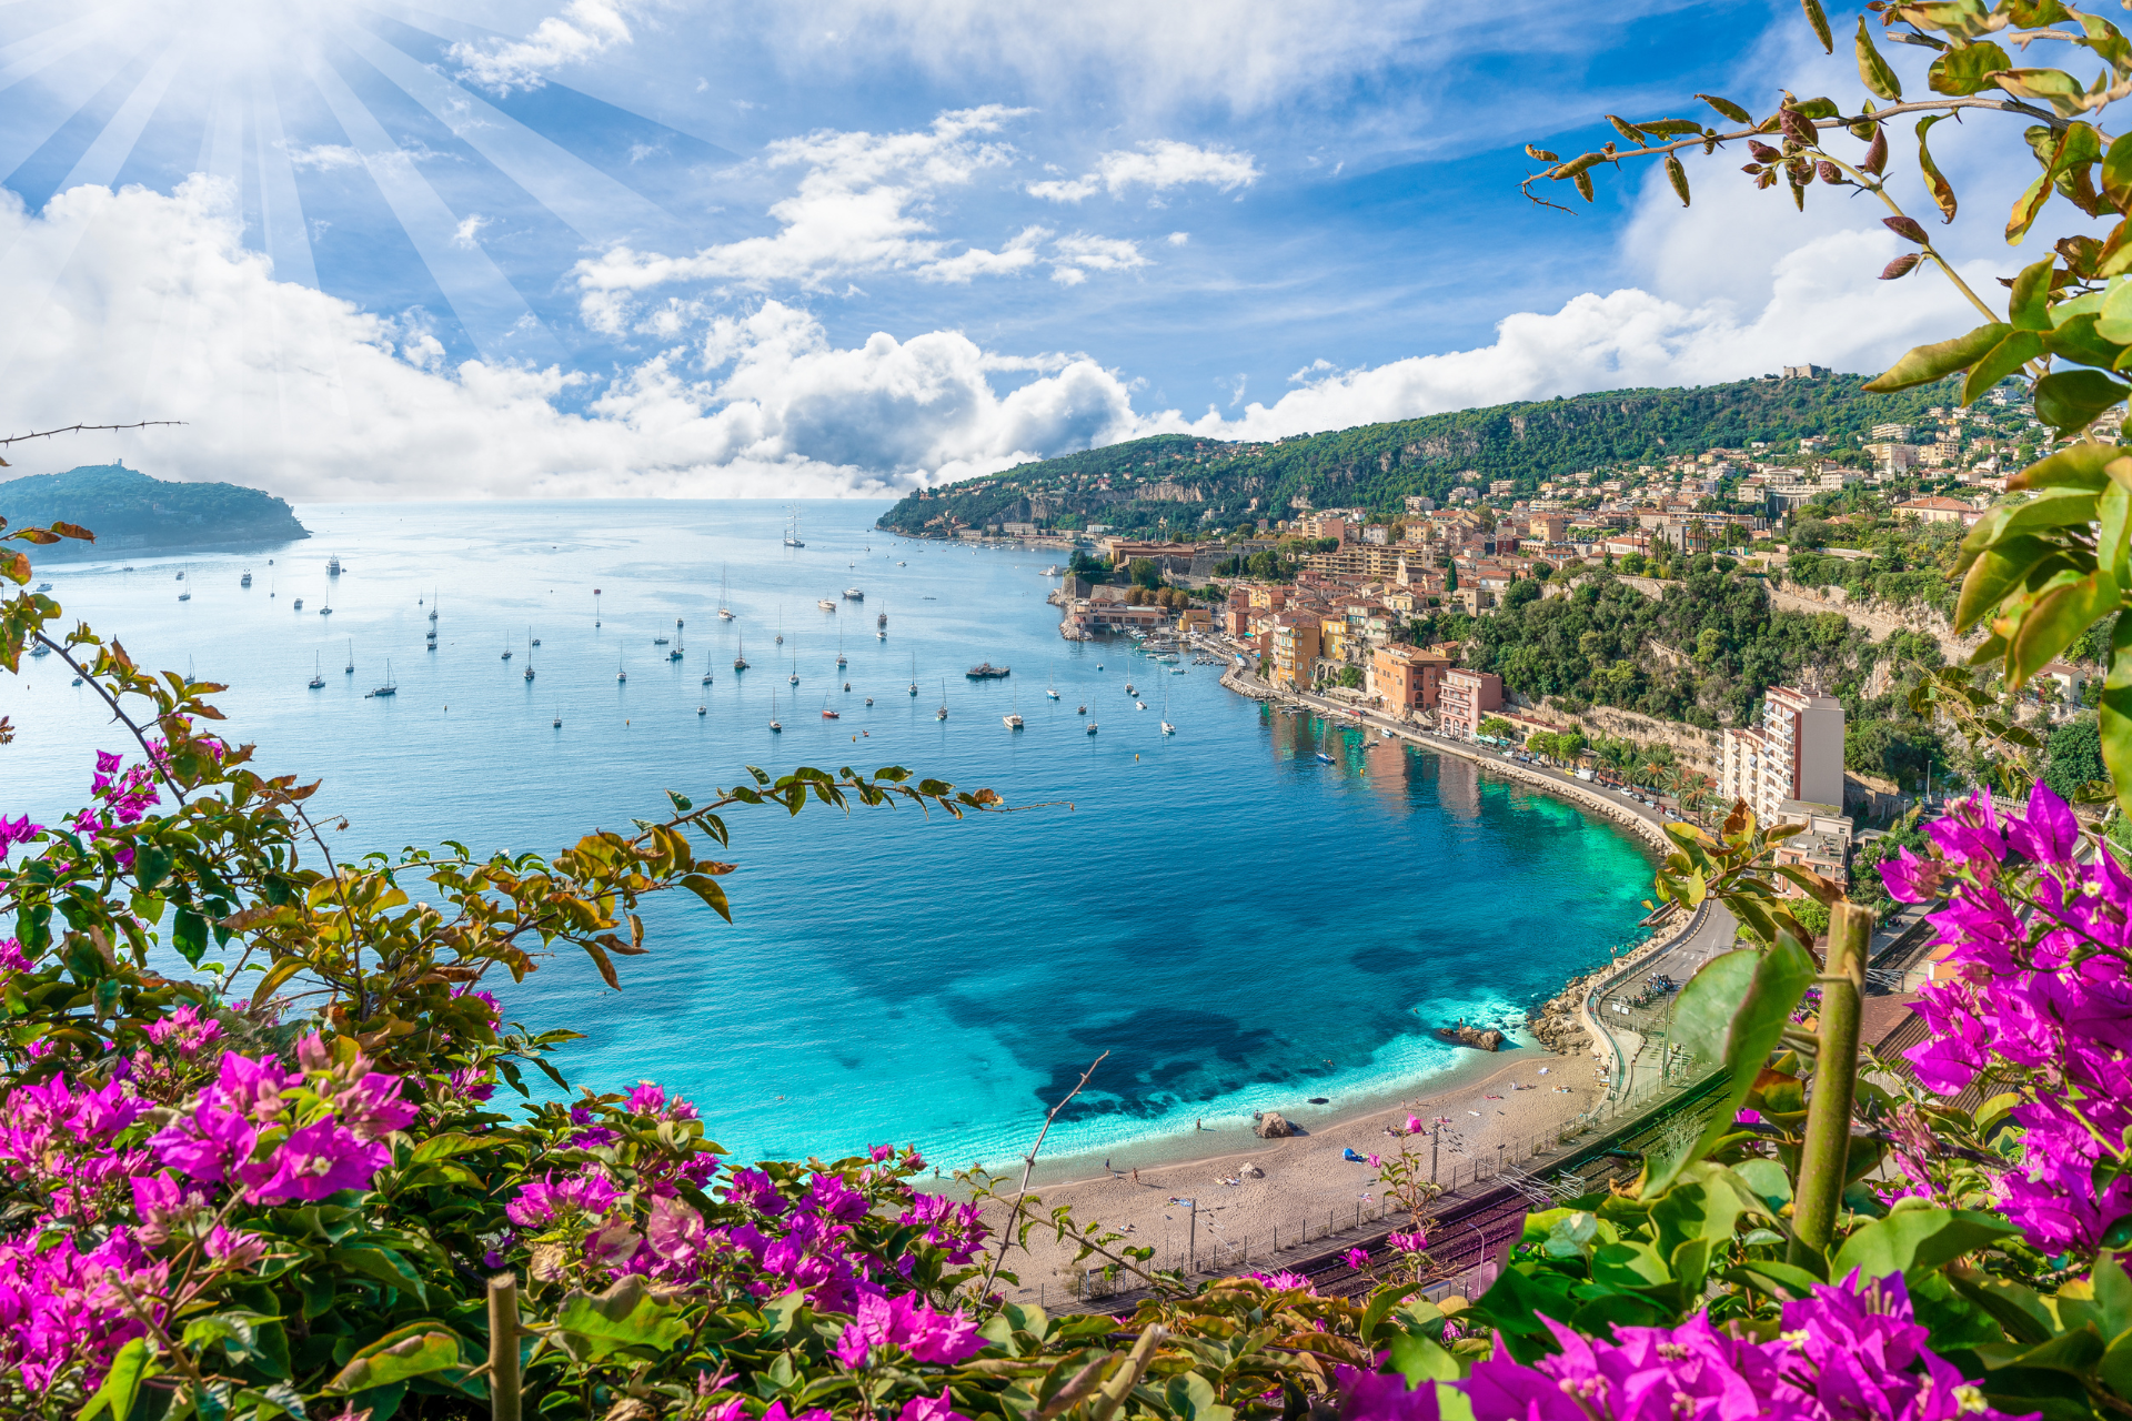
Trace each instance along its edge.
{"label": "magenta bougainvillea blooms along the bottom edge, right of centre", "polygon": [[[1782,1329],[1767,1342],[1721,1332],[1701,1312],[1678,1327],[1616,1327],[1618,1342],[1541,1321],[1558,1353],[1533,1366],[1499,1353],[1454,1383],[1475,1421],[2006,1421],[1925,1346],[1902,1276],[1868,1283],[1853,1272],[1836,1287],[1816,1285],[1784,1304]],[[1407,1391],[1399,1376],[1341,1368],[1339,1387],[1343,1421],[1437,1417],[1435,1389]]]}

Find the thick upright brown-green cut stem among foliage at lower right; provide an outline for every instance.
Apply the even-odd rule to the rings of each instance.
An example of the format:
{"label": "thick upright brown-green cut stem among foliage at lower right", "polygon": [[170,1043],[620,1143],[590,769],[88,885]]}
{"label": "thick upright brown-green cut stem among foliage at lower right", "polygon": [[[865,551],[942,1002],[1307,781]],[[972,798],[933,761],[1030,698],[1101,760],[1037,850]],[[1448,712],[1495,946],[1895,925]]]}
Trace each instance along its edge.
{"label": "thick upright brown-green cut stem among foliage at lower right", "polygon": [[1851,1159],[1851,1104],[1857,1095],[1859,1067],[1859,986],[1866,980],[1872,918],[1870,908],[1848,899],[1829,905],[1827,971],[1821,978],[1821,1050],[1814,1061],[1814,1095],[1806,1110],[1797,1208],[1791,1221],[1793,1265],[1827,1257],[1842,1210]]}

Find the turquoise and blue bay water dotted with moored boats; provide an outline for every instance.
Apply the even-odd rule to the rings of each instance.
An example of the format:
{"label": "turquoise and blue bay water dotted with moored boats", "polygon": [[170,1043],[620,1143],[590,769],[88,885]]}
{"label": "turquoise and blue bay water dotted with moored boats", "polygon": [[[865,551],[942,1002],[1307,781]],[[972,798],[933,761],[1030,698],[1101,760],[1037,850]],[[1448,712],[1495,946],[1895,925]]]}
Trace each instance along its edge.
{"label": "turquoise and blue bay water dotted with moored boats", "polygon": [[[661,814],[665,788],[736,784],[744,765],[906,765],[1025,805],[962,822],[742,810],[733,927],[661,903],[646,914],[652,954],[620,963],[620,993],[574,957],[499,989],[529,1025],[586,1031],[565,1052],[569,1076],[678,1087],[748,1155],[915,1140],[944,1163],[1004,1165],[1104,1050],[1047,1153],[1307,1097],[1337,1110],[1445,1069],[1454,1052],[1424,1040],[1424,1023],[1516,1016],[1642,916],[1648,854],[1605,820],[1456,758],[1364,752],[1356,731],[1222,690],[1217,667],[1168,675],[1130,643],[1062,641],[1040,575],[1051,554],[898,541],[868,528],[881,511],[868,503],[804,505],[804,550],[780,545],[782,507],[765,503],[298,511],[318,537],[273,567],[264,554],[143,556],[130,573],[53,565],[38,577],[136,660],[228,682],[232,737],[260,746],[264,771],[322,775],[318,805],[348,816],[350,852],[446,835],[552,852]],[[729,624],[721,565],[740,614]],[[846,586],[863,605],[840,599]],[[439,650],[426,654],[416,599],[433,594]],[[652,646],[676,618],[678,665]],[[529,626],[542,639],[531,686]],[[736,675],[742,637],[755,669]],[[350,641],[356,673],[343,675]],[[305,688],[313,654],[324,690]],[[386,656],[399,695],[365,699]],[[1013,677],[964,680],[979,660]],[[1128,677],[1151,709],[1132,707]],[[19,726],[0,750],[0,812],[60,814],[79,803],[92,752],[119,748],[66,682],[49,658],[0,677],[0,712]],[[782,735],[768,731],[772,692]],[[1156,724],[1164,695],[1175,737]],[[821,718],[825,701],[840,720]],[[1002,726],[1013,709],[1028,729]]]}

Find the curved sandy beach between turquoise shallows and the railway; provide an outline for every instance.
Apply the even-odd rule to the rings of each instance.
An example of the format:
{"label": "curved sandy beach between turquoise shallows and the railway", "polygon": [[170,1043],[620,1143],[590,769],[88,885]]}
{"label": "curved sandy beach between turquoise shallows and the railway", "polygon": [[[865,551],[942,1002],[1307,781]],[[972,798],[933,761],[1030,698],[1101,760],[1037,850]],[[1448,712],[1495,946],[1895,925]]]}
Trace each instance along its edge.
{"label": "curved sandy beach between turquoise shallows and the railway", "polygon": [[[1450,1185],[1454,1178],[1471,1180],[1480,1161],[1490,1167],[1497,1159],[1516,1161],[1535,1138],[1552,1140],[1565,1123],[1605,1097],[1588,1055],[1558,1057],[1537,1048],[1475,1052],[1473,1065],[1454,1072],[1450,1082],[1437,1078],[1428,1087],[1426,1095],[1416,1093],[1388,1108],[1305,1121],[1309,1133],[1286,1140],[1258,1140],[1224,1123],[1226,1129],[1198,1136],[1205,1153],[1185,1159],[1175,1155],[1179,1142],[1166,1140],[1136,1153],[1119,1150],[1107,1172],[1100,1167],[1104,1161],[1096,1161],[1094,1176],[1060,1178],[1062,1165],[1053,1165],[1051,1182],[1032,1185],[1043,1199],[1036,1212],[1049,1214],[1066,1204],[1083,1225],[1100,1223],[1124,1231],[1130,1246],[1156,1248],[1160,1268],[1181,1268],[1188,1248],[1200,1272],[1279,1268],[1283,1257],[1324,1253],[1332,1246],[1328,1234],[1337,1242],[1339,1229],[1352,1229],[1356,1219],[1384,1208],[1379,1170],[1367,1163],[1371,1155],[1390,1161],[1407,1148],[1428,1178],[1431,1138],[1386,1133],[1409,1116],[1424,1127],[1435,1125],[1437,1178]],[[1181,1144],[1190,1148],[1194,1136],[1185,1136]],[[1350,1161],[1347,1150],[1364,1161]],[[1038,1180],[1045,1174],[1040,1161]],[[989,1214],[998,1225],[1006,1208]],[[1057,1244],[1053,1231],[1032,1231],[1030,1253],[1013,1251],[1006,1259],[1021,1287],[1002,1291],[1017,1302],[1072,1295],[1081,1268],[1072,1255],[1075,1248]]]}

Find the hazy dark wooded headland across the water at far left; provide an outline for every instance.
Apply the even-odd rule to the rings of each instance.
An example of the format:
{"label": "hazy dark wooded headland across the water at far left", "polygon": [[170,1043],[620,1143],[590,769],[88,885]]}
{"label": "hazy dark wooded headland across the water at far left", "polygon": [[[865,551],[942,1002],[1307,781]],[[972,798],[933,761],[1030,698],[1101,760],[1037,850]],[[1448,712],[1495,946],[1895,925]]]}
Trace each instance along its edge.
{"label": "hazy dark wooded headland across the water at far left", "polygon": [[77,522],[94,543],[38,548],[38,562],[156,552],[243,552],[311,537],[281,499],[237,484],[166,484],[126,464],[83,464],[0,484],[9,526]]}

